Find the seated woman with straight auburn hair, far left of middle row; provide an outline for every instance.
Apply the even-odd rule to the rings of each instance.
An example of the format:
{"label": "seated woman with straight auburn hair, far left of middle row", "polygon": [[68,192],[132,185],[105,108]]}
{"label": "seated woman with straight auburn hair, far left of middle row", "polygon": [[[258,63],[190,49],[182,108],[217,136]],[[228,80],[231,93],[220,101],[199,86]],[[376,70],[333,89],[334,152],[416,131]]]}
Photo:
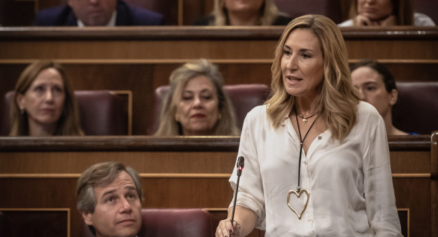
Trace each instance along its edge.
{"label": "seated woman with straight auburn hair, far left of middle row", "polygon": [[15,85],[10,136],[83,135],[77,111],[73,88],[60,64],[36,61]]}

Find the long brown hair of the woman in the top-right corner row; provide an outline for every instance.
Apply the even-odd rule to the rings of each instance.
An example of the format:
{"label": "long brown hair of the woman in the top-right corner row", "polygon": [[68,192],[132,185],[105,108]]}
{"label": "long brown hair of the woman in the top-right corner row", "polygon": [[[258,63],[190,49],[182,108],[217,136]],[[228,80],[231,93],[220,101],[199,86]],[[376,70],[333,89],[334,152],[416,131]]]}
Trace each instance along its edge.
{"label": "long brown hair of the woman in the top-right corner row", "polygon": [[[413,25],[413,1],[412,0],[391,0],[392,14],[396,16],[397,25]],[[357,0],[350,5],[349,17],[355,18],[357,12]]]}

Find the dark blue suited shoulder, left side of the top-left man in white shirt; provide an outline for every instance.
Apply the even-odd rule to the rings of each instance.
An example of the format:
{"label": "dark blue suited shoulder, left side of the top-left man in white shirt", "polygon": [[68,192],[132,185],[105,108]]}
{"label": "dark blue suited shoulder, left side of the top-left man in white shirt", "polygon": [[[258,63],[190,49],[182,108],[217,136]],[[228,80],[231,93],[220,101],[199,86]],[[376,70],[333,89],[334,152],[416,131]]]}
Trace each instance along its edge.
{"label": "dark blue suited shoulder, left side of the top-left man in white shirt", "polygon": [[73,10],[67,4],[58,5],[53,8],[46,8],[36,13],[34,25],[66,25],[66,20],[71,14],[73,14]]}

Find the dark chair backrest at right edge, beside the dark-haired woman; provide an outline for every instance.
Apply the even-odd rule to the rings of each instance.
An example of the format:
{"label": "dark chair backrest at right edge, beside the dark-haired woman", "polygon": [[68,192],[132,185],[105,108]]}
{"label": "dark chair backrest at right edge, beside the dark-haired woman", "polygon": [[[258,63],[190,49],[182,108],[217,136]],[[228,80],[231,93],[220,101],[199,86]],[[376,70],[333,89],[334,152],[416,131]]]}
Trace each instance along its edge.
{"label": "dark chair backrest at right edge, beside the dark-haired woman", "polygon": [[438,130],[438,82],[397,82],[396,86],[394,126],[427,135]]}

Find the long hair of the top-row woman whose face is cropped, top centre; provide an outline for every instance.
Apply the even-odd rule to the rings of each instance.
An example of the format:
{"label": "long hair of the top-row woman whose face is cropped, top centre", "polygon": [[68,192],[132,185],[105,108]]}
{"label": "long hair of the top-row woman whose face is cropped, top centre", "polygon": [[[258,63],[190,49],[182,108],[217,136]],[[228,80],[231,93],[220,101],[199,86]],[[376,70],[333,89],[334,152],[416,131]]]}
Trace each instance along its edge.
{"label": "long hair of the top-row woman whose face is cropped, top centre", "polygon": [[[225,0],[214,0],[213,14],[214,25],[229,25],[228,10],[225,6]],[[274,0],[265,0],[261,4],[258,25],[272,25],[278,14],[279,9],[276,8]]]}

